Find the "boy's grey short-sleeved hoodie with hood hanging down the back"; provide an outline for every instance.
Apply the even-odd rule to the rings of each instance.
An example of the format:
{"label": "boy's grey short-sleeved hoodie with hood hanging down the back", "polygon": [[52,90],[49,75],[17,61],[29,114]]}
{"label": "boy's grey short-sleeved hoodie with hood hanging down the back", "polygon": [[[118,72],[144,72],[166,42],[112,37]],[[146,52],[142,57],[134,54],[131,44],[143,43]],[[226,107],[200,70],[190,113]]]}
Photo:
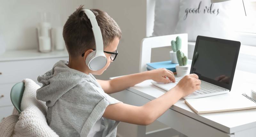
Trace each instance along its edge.
{"label": "boy's grey short-sleeved hoodie with hood hanging down the back", "polygon": [[92,74],[67,65],[67,60],[60,60],[37,78],[43,86],[36,91],[36,98],[46,102],[48,125],[61,137],[86,137],[102,119],[100,136],[116,137],[119,121],[101,117],[108,105],[120,101],[106,94]]}

